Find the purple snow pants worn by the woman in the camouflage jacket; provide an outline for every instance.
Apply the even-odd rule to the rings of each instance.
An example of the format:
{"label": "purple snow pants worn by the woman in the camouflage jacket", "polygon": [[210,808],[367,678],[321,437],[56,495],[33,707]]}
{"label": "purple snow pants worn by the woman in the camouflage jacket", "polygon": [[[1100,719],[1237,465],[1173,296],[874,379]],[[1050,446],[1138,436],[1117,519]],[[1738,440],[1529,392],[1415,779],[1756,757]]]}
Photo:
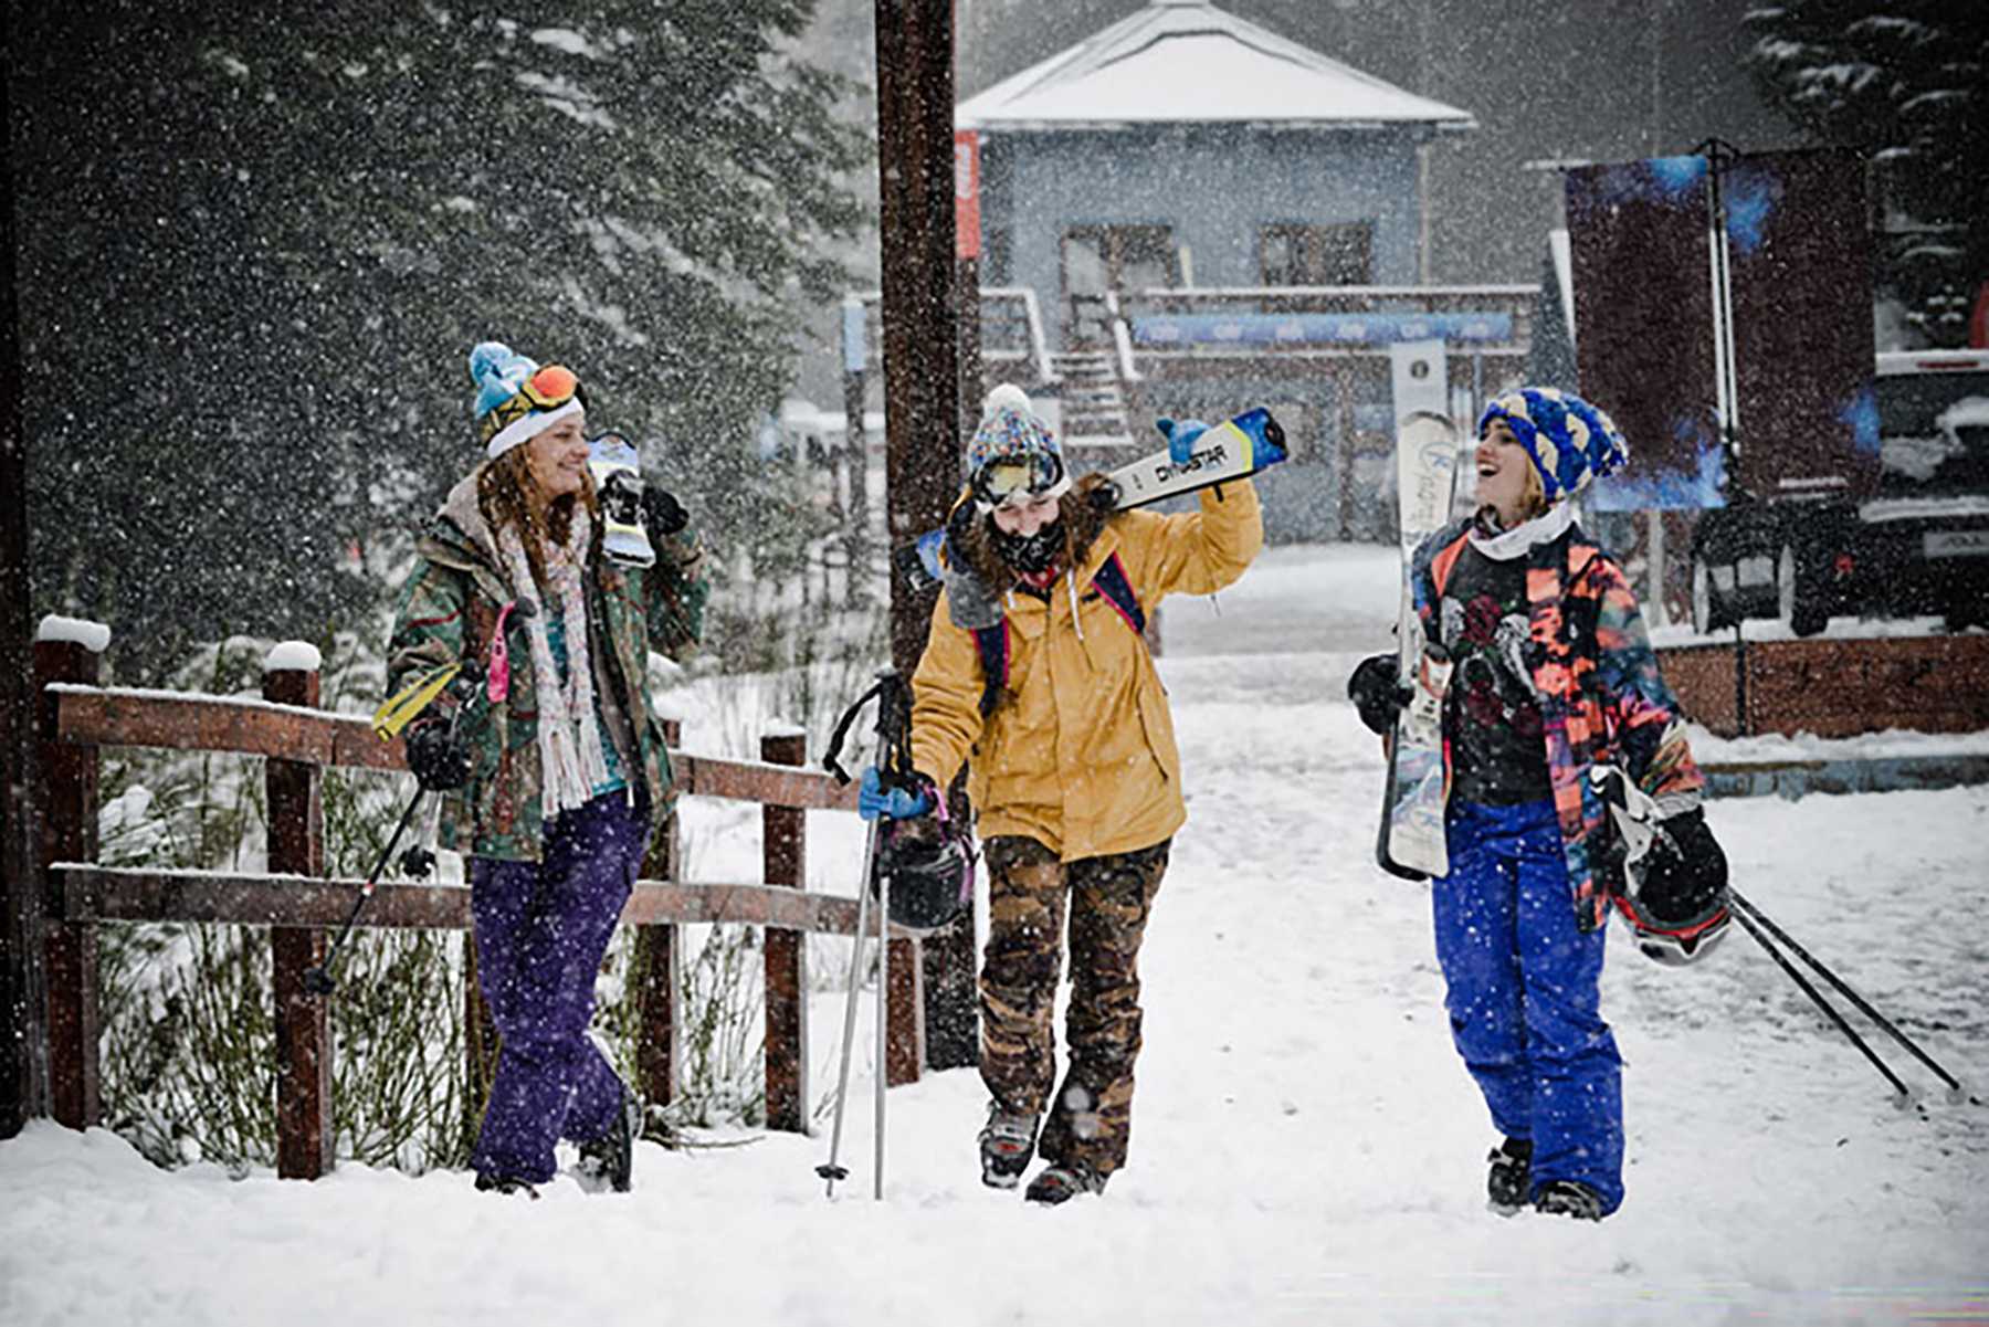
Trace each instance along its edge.
{"label": "purple snow pants worn by the woman in the camouflage jacket", "polygon": [[543,861],[471,859],[477,985],[501,1046],[477,1174],[545,1184],[557,1140],[593,1142],[613,1128],[623,1082],[587,1023],[646,838],[646,808],[615,790],[561,814]]}

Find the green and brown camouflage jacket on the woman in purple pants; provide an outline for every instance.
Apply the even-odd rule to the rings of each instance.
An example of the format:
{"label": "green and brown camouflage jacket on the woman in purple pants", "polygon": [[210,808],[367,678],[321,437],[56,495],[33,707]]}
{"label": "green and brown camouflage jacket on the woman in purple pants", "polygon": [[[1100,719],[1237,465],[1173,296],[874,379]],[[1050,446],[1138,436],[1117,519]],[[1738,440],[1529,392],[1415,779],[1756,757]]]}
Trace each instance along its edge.
{"label": "green and brown camouflage jacket on the woman in purple pants", "polygon": [[[511,587],[499,575],[495,541],[477,511],[475,475],[459,481],[416,541],[420,561],[400,591],[388,643],[388,694],[412,676],[457,659],[489,666],[491,633]],[[702,547],[684,529],[656,549],[648,569],[621,567],[601,553],[599,527],[587,559],[587,627],[595,694],[623,770],[640,770],[650,830],[668,814],[670,756],[648,706],[648,651],[686,659],[704,635],[710,593]],[[537,861],[545,826],[539,810],[539,702],[531,643],[517,615],[505,619],[511,690],[489,702],[479,690],[461,714],[469,784],[444,798],[442,848],[477,857]],[[448,716],[440,696],[432,712]],[[633,782],[633,778],[631,778]]]}

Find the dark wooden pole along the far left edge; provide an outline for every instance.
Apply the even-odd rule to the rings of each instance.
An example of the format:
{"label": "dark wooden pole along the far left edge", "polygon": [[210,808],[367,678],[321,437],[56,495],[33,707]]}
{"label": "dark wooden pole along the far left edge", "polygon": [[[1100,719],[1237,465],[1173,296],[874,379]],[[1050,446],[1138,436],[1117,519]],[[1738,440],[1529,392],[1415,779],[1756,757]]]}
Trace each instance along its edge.
{"label": "dark wooden pole along the far left edge", "polygon": [[[8,10],[12,18],[12,8]],[[12,74],[14,24],[0,32]],[[12,125],[12,78],[0,121]],[[14,207],[0,207],[0,1138],[48,1114],[36,1046],[48,1043],[34,991],[42,909],[34,893],[34,641],[28,635],[28,436],[20,424],[20,308],[14,294]]]}

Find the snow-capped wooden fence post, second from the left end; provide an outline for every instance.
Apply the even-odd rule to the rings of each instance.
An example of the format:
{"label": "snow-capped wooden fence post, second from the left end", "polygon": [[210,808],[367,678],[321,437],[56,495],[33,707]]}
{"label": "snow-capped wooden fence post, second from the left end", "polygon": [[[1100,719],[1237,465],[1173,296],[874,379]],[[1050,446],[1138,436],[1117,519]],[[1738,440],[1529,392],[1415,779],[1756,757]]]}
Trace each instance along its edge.
{"label": "snow-capped wooden fence post, second from the left end", "polygon": [[[308,659],[306,659],[308,653]],[[318,661],[288,641],[263,664],[263,698],[318,708]],[[269,869],[324,875],[324,772],[302,760],[271,758]],[[332,1146],[332,1023],[326,1001],[304,989],[304,971],[324,963],[326,935],[314,927],[271,927],[276,1001],[276,1176],[316,1180],[336,1164]]]}

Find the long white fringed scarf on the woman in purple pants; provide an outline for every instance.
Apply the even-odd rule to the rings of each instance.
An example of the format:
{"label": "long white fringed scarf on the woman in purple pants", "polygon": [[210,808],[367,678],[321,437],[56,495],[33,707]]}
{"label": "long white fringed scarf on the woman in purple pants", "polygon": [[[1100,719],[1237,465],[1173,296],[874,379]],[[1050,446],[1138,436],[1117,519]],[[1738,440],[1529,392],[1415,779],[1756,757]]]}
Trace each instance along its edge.
{"label": "long white fringed scarf on the woman in purple pants", "polygon": [[[595,666],[587,651],[587,547],[593,519],[585,505],[573,509],[573,529],[565,547],[545,543],[547,595],[557,601],[567,637],[567,682],[559,682],[553,643],[545,633],[545,605],[525,619],[531,637],[531,676],[539,696],[539,806],[551,822],[559,812],[585,806],[595,788],[609,780],[607,752],[601,748],[601,720],[595,716]],[[515,525],[497,531],[497,549],[511,573],[517,599],[537,599],[531,561]]]}

